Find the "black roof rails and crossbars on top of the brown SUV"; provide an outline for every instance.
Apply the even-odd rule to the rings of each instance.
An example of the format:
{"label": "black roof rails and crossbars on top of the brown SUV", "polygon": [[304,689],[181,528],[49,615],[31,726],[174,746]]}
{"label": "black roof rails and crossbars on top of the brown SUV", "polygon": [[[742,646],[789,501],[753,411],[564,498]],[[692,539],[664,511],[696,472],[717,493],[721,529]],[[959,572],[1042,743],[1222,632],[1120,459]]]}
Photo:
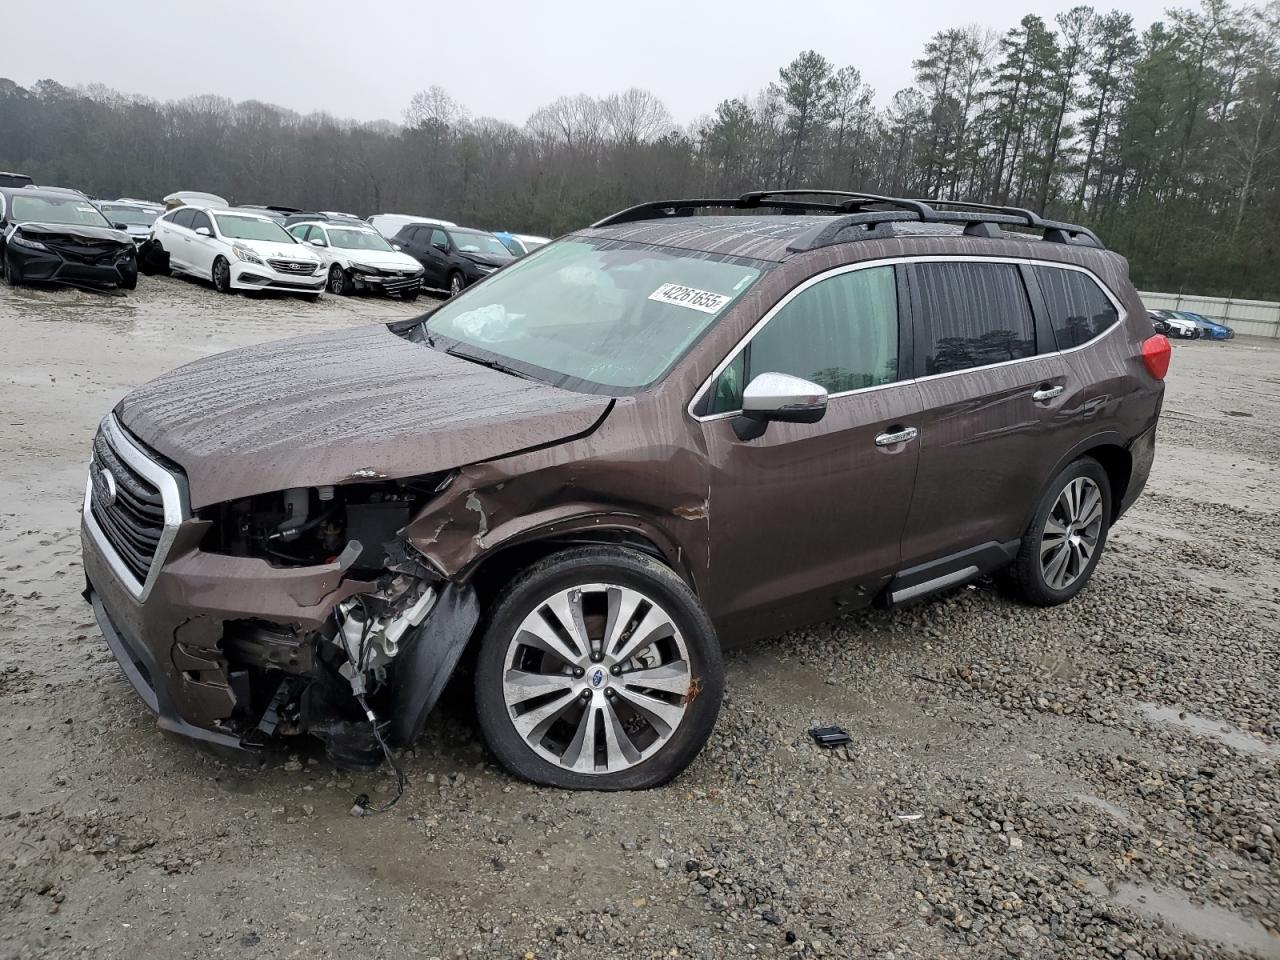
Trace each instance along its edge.
{"label": "black roof rails and crossbars on top of the brown SUV", "polygon": [[[801,197],[820,197],[820,200],[801,200]],[[938,209],[943,207],[943,209]],[[879,193],[864,193],[840,189],[758,189],[739,197],[657,200],[639,204],[599,220],[593,227],[614,227],[617,224],[643,220],[664,220],[672,216],[692,216],[696,210],[780,210],[783,212],[829,214],[832,221],[820,224],[796,237],[787,250],[800,252],[845,243],[854,239],[870,239],[888,236],[878,228],[892,223],[947,223],[964,225],[970,237],[998,237],[1000,227],[1025,227],[1041,230],[1043,239],[1051,243],[1080,243],[1102,247],[1098,236],[1087,227],[1046,220],[1038,214],[1018,206],[997,206],[977,204],[968,200],[924,200],[913,197],[890,197]],[[861,228],[863,236],[847,236],[851,228]]]}

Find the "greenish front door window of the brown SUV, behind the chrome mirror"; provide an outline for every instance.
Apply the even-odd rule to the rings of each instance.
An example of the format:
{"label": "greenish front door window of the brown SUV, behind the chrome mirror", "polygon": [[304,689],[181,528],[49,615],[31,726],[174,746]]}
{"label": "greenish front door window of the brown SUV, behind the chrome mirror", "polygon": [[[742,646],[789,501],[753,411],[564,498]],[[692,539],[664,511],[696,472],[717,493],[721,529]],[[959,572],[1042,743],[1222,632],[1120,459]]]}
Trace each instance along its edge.
{"label": "greenish front door window of the brown SUV, behind the chrome mirror", "polygon": [[897,379],[897,283],[892,266],[851,270],[792,297],[712,384],[708,413],[742,407],[760,374],[791,374],[828,393]]}

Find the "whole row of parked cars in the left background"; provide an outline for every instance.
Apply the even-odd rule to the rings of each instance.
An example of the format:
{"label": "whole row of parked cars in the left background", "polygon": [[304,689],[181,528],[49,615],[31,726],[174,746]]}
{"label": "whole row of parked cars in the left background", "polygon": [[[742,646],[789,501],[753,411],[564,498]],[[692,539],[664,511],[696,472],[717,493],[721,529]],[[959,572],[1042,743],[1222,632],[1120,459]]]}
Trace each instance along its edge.
{"label": "whole row of parked cars in the left background", "polygon": [[[132,289],[137,274],[178,273],[207,280],[221,293],[278,291],[319,297],[375,292],[413,300],[424,288],[456,296],[547,237],[489,233],[451,220],[376,214],[367,220],[338,210],[268,204],[230,205],[216,193],[174,191],[161,202],[102,201],[69,187],[35,187],[26,174],[0,173],[0,273],[10,283],[67,282]],[[42,218],[42,219],[37,219]],[[36,234],[65,228],[105,232],[104,250],[58,251]],[[20,228],[20,229],[19,229]],[[45,228],[55,228],[52,232]],[[6,252],[10,243],[13,252]],[[87,237],[81,236],[79,241]],[[76,246],[74,243],[72,246]],[[129,255],[128,248],[137,247]],[[83,256],[91,262],[82,262]],[[70,259],[68,259],[70,257]],[[12,266],[10,266],[12,265]]]}

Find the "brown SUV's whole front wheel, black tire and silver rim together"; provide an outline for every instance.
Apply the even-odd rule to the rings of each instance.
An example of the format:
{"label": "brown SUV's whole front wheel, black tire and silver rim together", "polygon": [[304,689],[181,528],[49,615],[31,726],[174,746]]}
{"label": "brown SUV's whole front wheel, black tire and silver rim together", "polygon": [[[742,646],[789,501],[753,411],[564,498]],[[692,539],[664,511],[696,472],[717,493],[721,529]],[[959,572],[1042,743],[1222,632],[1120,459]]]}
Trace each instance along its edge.
{"label": "brown SUV's whole front wheel, black tire and silver rim together", "polygon": [[[557,602],[571,614],[568,598],[579,588],[582,616],[568,617],[576,623],[570,636],[581,637],[585,627],[591,641],[612,648],[595,658],[579,655],[544,617]],[[614,626],[611,609],[632,616]],[[530,626],[550,643],[544,646]],[[549,653],[556,644],[571,657]],[[621,654],[617,666],[613,653]],[[628,684],[637,671],[663,686]],[[658,561],[618,548],[564,550],[525,570],[493,608],[476,658],[476,710],[489,749],[516,776],[571,790],[667,783],[703,749],[723,691],[719,641],[692,591]]]}

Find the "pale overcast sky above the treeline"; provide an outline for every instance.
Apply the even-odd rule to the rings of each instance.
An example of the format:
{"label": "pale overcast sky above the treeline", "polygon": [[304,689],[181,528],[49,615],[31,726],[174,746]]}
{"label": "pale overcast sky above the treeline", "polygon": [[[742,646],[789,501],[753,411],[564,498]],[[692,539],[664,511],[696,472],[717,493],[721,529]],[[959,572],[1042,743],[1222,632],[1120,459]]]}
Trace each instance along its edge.
{"label": "pale overcast sky above the treeline", "polygon": [[[1006,31],[1043,0],[4,0],[0,77],[105,83],[156,99],[220,93],[399,120],[444,87],[475,115],[522,123],[564,93],[654,91],[684,124],[753,95],[797,52],[851,64],[884,104],[946,27]],[[1167,0],[1101,1],[1139,29]],[[1179,5],[1190,5],[1189,3]]]}

